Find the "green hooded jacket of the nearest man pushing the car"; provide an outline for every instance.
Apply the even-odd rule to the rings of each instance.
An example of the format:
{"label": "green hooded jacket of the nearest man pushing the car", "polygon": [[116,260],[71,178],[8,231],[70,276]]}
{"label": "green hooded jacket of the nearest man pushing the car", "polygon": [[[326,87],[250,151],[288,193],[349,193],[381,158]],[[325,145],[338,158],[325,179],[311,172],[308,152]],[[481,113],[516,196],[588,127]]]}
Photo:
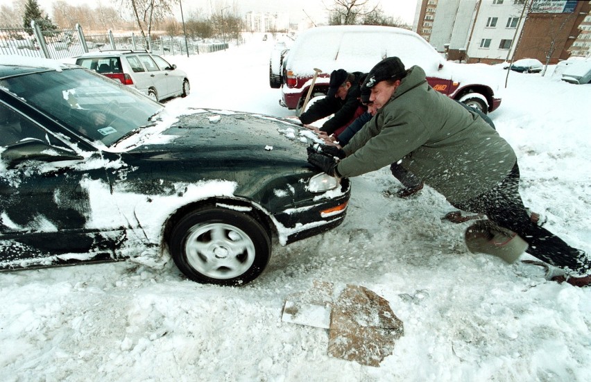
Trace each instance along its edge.
{"label": "green hooded jacket of the nearest man pushing the car", "polygon": [[452,204],[492,189],[517,160],[495,129],[436,92],[417,66],[344,150],[337,167],[344,177],[398,162]]}

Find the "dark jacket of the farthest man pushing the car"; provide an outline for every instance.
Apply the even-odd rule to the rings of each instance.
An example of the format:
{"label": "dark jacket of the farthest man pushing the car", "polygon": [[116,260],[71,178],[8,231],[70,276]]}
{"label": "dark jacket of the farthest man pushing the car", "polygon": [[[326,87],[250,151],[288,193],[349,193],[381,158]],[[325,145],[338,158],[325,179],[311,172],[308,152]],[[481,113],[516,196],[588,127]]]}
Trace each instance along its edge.
{"label": "dark jacket of the farthest man pushing the car", "polygon": [[347,97],[344,100],[341,98],[336,97],[325,97],[320,101],[311,105],[306,112],[300,115],[300,121],[304,125],[309,125],[318,119],[323,119],[330,114],[334,114],[331,119],[326,121],[320,131],[326,132],[327,134],[332,134],[337,129],[343,127],[344,125],[350,123],[353,119],[357,108],[361,105],[359,102],[359,97],[361,96],[361,92],[359,90],[359,81],[365,73],[361,73],[359,71],[353,72],[355,79],[347,92]]}

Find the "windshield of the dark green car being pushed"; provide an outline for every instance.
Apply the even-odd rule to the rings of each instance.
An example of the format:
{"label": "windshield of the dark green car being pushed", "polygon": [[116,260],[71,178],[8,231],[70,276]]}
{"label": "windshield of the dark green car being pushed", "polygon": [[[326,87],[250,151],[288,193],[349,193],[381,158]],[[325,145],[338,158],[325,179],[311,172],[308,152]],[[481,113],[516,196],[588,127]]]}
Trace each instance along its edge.
{"label": "windshield of the dark green car being pushed", "polygon": [[15,76],[0,86],[91,141],[110,146],[151,123],[162,105],[86,69]]}

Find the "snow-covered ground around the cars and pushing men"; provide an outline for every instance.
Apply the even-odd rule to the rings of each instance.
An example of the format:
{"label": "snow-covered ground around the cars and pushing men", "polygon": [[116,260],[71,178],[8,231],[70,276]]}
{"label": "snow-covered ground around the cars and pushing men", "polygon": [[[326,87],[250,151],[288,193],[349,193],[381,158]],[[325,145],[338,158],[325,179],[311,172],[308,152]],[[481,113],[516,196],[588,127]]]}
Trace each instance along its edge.
{"label": "snow-covered ground around the cars and pushing men", "polygon": [[[191,94],[169,108],[290,116],[268,86],[273,40],[169,60]],[[591,85],[482,67],[501,84],[490,114],[515,148],[526,205],[591,252]],[[551,68],[552,69],[552,68]],[[172,263],[0,274],[0,381],[588,381],[591,288],[540,266],[470,254],[453,208],[428,187],[409,200],[388,168],[352,179],[340,227],[281,247],[241,288],[187,281]],[[523,259],[533,259],[524,255]],[[282,322],[314,280],[390,302],[404,336],[379,367],[327,355],[326,329]]]}

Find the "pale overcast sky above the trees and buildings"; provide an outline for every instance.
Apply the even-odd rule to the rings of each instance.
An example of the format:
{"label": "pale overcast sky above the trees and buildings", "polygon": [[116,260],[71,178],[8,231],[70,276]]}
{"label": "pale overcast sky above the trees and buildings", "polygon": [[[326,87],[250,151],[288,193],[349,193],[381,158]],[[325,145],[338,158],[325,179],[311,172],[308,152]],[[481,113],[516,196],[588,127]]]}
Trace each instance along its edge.
{"label": "pale overcast sky above the trees and buildings", "polygon": [[[4,1],[4,0],[2,0]],[[51,5],[55,0],[37,0],[42,10],[49,12],[51,15]],[[72,5],[77,5],[87,2],[86,0],[67,0]],[[118,4],[120,0],[110,1],[101,0],[90,4],[94,8],[96,4],[103,3],[104,5]],[[400,17],[407,24],[413,24],[415,8],[417,0],[381,0],[379,1],[382,10],[388,16]],[[292,22],[298,22],[305,19],[306,13],[314,19],[314,21],[325,21],[324,13],[326,6],[332,5],[333,0],[184,0],[182,1],[182,9],[185,16],[189,15],[191,10],[200,8],[205,12],[209,12],[212,8],[218,10],[225,6],[233,7],[234,3],[239,8],[241,14],[248,11],[252,12],[287,12]],[[228,10],[230,11],[230,10]],[[304,12],[305,11],[305,12]]]}

